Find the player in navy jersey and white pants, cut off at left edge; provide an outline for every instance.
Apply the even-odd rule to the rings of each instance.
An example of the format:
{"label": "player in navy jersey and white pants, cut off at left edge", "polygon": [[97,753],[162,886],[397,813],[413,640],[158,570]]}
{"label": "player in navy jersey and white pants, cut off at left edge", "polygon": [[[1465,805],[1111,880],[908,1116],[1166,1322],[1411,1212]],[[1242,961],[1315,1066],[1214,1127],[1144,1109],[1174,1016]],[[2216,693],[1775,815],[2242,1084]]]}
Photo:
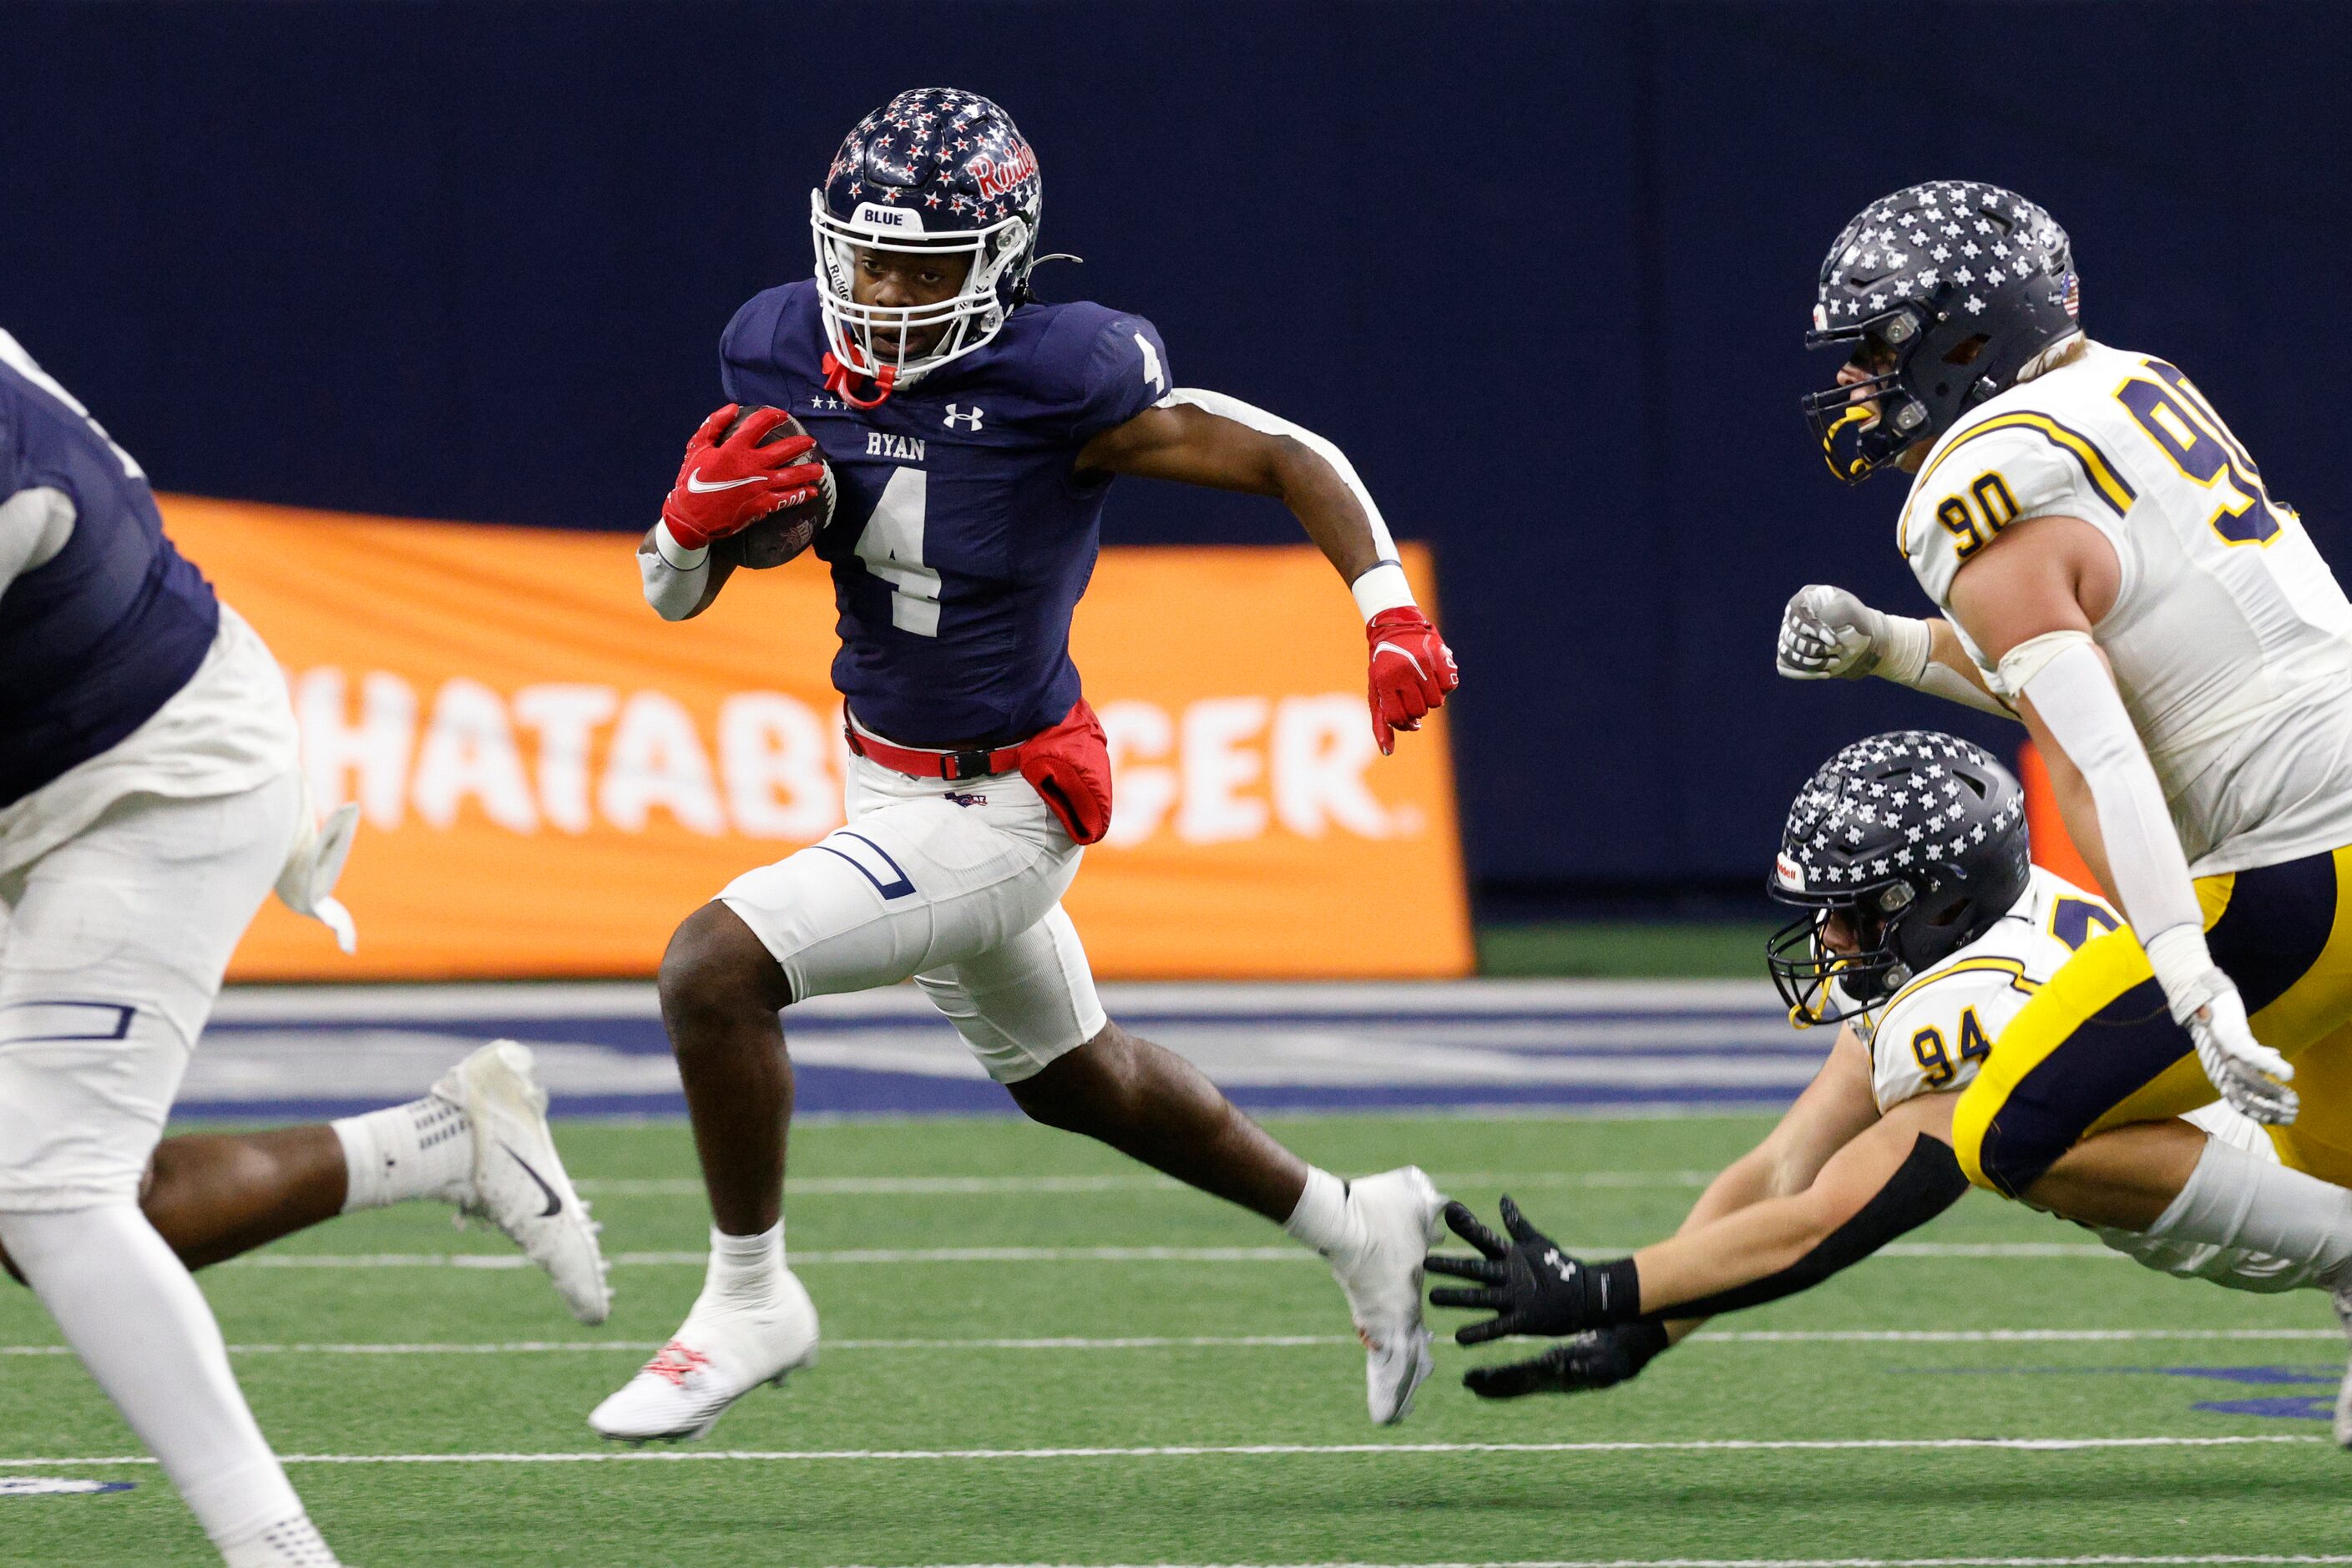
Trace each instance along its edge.
{"label": "player in navy jersey and white pants, cut off at left edge", "polygon": [[230,1568],[334,1568],[188,1265],[435,1194],[597,1321],[602,1260],[546,1095],[499,1044],[409,1105],[158,1150],[270,889],[348,947],[332,889],[358,806],[313,820],[278,661],[172,548],[139,463],[7,331],[0,672],[0,1265]]}

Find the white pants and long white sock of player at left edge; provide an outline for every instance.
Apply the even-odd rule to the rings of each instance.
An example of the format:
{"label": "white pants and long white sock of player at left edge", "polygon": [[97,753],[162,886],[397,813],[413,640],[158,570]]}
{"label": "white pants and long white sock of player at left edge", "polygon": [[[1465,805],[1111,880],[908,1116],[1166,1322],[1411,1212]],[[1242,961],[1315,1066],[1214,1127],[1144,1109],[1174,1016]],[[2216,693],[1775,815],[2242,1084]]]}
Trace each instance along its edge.
{"label": "white pants and long white sock of player at left edge", "polygon": [[139,1185],[303,809],[294,771],[129,795],[0,879],[0,1246],[228,1554],[310,1526]]}

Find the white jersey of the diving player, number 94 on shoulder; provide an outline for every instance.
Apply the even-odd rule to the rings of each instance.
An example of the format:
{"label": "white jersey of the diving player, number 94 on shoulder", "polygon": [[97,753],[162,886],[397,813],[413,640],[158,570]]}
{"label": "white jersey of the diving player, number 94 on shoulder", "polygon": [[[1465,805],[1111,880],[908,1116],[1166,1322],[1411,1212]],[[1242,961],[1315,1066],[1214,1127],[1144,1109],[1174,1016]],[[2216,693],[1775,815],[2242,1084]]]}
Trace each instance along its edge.
{"label": "white jersey of the diving player, number 94 on shoulder", "polygon": [[2039,865],[2009,914],[1910,985],[1846,1023],[1870,1046],[1879,1114],[1903,1100],[1964,1088],[2025,999],[2093,936],[2122,926],[2096,893]]}

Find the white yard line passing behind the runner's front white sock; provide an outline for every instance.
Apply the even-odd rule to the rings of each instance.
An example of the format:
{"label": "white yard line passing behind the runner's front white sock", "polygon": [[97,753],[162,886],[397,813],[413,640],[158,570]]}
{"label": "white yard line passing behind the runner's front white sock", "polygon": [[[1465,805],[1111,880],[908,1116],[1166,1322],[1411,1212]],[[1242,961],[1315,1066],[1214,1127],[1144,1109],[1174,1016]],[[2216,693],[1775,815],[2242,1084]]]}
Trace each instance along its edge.
{"label": "white yard line passing behind the runner's front white sock", "polygon": [[[1578,1244],[1581,1253],[1632,1246]],[[1896,1241],[1877,1258],[2122,1258],[2096,1241]],[[708,1253],[616,1253],[621,1269],[699,1269]],[[793,1265],[873,1262],[1315,1262],[1303,1246],[870,1246],[793,1253]],[[524,1269],[520,1253],[252,1253],[223,1269]]]}

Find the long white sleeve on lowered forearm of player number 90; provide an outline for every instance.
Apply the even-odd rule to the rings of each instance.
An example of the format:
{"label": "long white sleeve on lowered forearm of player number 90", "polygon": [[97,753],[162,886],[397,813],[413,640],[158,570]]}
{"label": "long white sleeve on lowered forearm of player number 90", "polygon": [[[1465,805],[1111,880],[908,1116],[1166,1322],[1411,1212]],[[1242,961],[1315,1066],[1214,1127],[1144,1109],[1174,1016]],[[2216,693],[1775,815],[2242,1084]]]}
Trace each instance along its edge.
{"label": "long white sleeve on lowered forearm of player number 90", "polygon": [[[2157,783],[2157,769],[2147,762],[2147,748],[2131,726],[2098,646],[2089,632],[2032,637],[2002,658],[2002,684],[2032,701],[2051,738],[2091,785],[2107,875],[2114,877],[2114,896],[2124,900],[2124,917],[2150,957],[2161,945],[2178,954],[2173,971],[2192,969],[2171,978],[2159,969],[2164,992],[2173,994],[2176,978],[2187,983],[2213,966],[2204,957],[2204,914],[2164,804],[2164,785]],[[2171,936],[2173,931],[2183,933]]]}

